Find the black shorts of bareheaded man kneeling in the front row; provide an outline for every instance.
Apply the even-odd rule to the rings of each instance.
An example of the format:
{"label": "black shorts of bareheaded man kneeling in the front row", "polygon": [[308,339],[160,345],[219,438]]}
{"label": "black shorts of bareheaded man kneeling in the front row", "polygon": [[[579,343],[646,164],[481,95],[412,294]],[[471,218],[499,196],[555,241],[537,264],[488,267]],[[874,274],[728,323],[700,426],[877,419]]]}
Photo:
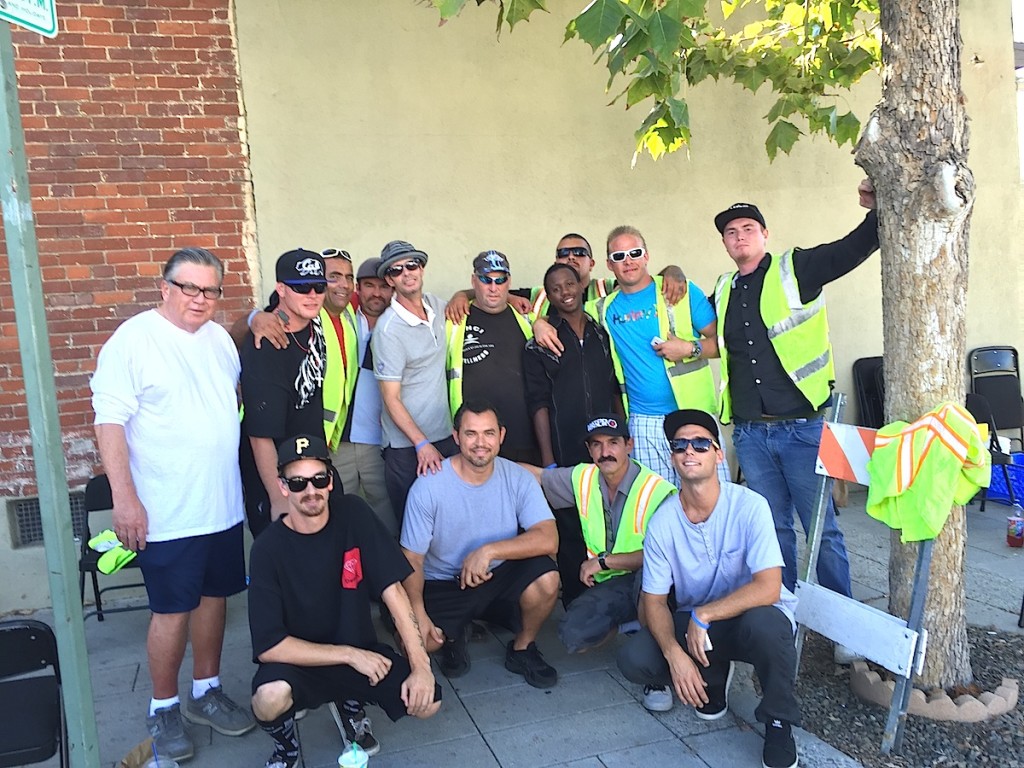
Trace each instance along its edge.
{"label": "black shorts of bareheaded man kneeling in the front row", "polygon": [[462,589],[457,580],[427,581],[423,605],[434,626],[446,637],[458,633],[474,618],[483,618],[511,632],[522,629],[519,598],[525,589],[548,571],[555,561],[543,555],[525,560],[506,560],[479,587]]}

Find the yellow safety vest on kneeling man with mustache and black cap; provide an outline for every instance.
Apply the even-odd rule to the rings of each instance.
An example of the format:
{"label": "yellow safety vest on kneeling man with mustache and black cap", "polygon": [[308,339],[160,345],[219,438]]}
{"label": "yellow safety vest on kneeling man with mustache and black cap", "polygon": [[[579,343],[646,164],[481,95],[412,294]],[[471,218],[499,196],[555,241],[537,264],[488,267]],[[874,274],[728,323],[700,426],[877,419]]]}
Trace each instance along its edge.
{"label": "yellow safety vest on kneeling man with mustache and black cap", "polygon": [[[572,469],[572,495],[575,497],[577,511],[580,512],[580,523],[583,527],[583,540],[590,557],[597,557],[605,551],[621,554],[643,549],[643,537],[647,532],[647,522],[651,515],[662,502],[676,493],[676,487],[664,477],[638,462],[634,461],[633,464],[640,468],[640,474],[633,480],[626,495],[623,516],[615,531],[615,543],[610,550],[604,529],[604,498],[599,483],[600,470],[595,464],[578,464]],[[621,569],[602,570],[594,577],[594,581],[604,582],[629,572]]]}

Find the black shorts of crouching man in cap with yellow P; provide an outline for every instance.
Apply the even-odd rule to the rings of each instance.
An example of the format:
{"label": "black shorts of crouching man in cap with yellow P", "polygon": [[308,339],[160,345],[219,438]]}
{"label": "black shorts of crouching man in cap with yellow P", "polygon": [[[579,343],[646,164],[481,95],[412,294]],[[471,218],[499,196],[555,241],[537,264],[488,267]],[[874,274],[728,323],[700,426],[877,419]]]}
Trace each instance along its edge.
{"label": "black shorts of crouching man in cap with yellow P", "polygon": [[[253,676],[253,694],[266,683],[284,680],[292,688],[295,710],[311,710],[328,701],[352,699],[365,703],[375,703],[387,713],[391,720],[407,715],[401,700],[401,684],[409,677],[409,662],[398,655],[389,645],[378,643],[372,650],[391,659],[391,671],[377,685],[348,665],[335,667],[298,667],[292,664],[261,664]],[[434,685],[434,700],[441,700],[441,687]]]}

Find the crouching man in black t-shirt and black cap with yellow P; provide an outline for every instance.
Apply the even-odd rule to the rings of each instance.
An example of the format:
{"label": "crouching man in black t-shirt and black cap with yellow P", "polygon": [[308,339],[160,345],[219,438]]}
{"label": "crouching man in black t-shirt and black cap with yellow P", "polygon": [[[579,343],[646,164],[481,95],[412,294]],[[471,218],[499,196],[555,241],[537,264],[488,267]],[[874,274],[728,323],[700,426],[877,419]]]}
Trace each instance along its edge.
{"label": "crouching man in black t-shirt and black cap with yellow P", "polygon": [[[340,702],[346,740],[371,754],[380,745],[364,702],[388,717],[426,718],[440,708],[440,687],[401,586],[412,568],[358,497],[330,497],[333,472],[322,437],[298,435],[278,451],[288,512],[253,544],[249,628],[253,713],[274,741],[266,768],[298,761],[295,713]],[[377,642],[374,599],[394,617],[406,657]]]}

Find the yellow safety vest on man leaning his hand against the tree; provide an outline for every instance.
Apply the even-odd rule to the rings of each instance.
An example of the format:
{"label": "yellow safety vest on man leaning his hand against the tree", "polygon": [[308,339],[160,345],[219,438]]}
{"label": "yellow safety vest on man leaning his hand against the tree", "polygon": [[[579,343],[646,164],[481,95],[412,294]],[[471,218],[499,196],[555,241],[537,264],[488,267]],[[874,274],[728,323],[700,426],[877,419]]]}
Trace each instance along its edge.
{"label": "yellow safety vest on man leaning his hand against the tree", "polygon": [[[718,351],[722,357],[721,421],[732,419],[729,395],[729,353],[725,347],[725,312],[729,294],[738,272],[726,272],[715,286],[715,310],[718,313]],[[761,317],[768,328],[768,340],[778,355],[782,370],[814,409],[831,395],[836,381],[831,344],[828,342],[828,315],[824,294],[807,304],[800,300],[800,286],[793,267],[793,250],[772,257],[761,289]]]}

